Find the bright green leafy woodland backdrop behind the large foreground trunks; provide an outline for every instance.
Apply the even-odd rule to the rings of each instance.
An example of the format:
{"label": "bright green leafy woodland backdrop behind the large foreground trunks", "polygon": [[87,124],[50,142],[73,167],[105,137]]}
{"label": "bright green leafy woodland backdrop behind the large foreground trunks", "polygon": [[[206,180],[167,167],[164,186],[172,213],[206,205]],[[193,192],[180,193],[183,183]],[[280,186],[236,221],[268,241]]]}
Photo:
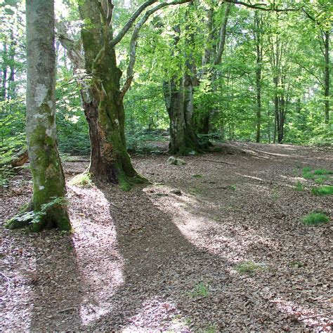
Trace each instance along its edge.
{"label": "bright green leafy woodland backdrop behind the large foreground trunks", "polygon": [[[115,1],[115,31],[141,3]],[[193,120],[201,141],[332,144],[332,3],[283,1],[280,8],[299,10],[207,0],[151,15],[136,41],[133,83],[124,98],[129,150],[156,152],[147,141],[168,140],[164,85],[189,71],[196,78]],[[24,11],[22,1],[6,0],[0,7],[1,159],[25,145]],[[65,32],[81,48],[76,1],[56,2],[56,15],[58,144],[61,152],[88,155],[79,84],[84,74],[74,71],[60,41]],[[117,47],[123,72],[130,38]]]}

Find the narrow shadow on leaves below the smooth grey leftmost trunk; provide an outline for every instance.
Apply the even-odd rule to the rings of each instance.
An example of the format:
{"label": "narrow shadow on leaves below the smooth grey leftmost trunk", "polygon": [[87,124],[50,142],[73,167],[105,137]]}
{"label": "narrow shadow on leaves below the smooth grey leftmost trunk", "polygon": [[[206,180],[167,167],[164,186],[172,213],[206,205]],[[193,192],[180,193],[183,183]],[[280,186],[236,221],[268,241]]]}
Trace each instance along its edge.
{"label": "narrow shadow on leaves below the smooth grey leftmost trunk", "polygon": [[82,279],[69,235],[43,232],[37,246],[35,271],[30,277],[32,332],[63,331],[79,327]]}

